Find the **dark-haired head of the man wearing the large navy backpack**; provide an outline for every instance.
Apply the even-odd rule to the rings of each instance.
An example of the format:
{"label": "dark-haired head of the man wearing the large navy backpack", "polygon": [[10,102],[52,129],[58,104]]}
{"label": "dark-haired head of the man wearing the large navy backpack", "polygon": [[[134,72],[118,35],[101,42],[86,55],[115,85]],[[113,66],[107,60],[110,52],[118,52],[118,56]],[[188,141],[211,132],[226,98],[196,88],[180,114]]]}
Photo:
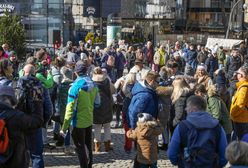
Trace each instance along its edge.
{"label": "dark-haired head of the man wearing the large navy backpack", "polygon": [[193,95],[187,99],[185,110],[187,111],[187,113],[192,113],[192,112],[206,111],[206,108],[207,108],[206,100],[201,96]]}

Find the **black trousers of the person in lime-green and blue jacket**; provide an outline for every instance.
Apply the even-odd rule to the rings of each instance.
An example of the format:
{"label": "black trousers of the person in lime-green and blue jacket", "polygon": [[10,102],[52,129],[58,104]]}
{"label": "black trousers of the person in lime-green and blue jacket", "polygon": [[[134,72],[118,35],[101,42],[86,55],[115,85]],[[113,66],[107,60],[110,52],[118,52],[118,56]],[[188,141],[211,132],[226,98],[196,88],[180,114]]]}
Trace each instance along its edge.
{"label": "black trousers of the person in lime-green and blue jacket", "polygon": [[81,168],[92,168],[92,126],[73,128],[72,139],[76,146]]}

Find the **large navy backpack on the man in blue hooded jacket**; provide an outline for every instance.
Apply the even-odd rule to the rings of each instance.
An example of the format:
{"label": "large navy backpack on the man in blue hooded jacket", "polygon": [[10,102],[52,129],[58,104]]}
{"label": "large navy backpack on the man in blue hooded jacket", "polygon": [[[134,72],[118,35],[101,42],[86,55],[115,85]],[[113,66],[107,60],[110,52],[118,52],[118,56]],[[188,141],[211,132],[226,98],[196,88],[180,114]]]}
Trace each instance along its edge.
{"label": "large navy backpack on the man in blue hooded jacket", "polygon": [[182,163],[184,167],[219,167],[218,141],[221,127],[197,129],[189,121],[179,123],[182,142]]}

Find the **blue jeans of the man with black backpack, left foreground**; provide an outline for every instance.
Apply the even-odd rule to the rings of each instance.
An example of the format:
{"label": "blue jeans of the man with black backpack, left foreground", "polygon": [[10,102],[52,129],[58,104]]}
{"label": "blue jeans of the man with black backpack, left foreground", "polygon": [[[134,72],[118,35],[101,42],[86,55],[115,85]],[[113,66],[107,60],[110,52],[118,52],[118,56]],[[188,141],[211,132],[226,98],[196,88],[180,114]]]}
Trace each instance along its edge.
{"label": "blue jeans of the man with black backpack, left foreground", "polygon": [[33,168],[44,168],[42,128],[27,135],[27,145]]}

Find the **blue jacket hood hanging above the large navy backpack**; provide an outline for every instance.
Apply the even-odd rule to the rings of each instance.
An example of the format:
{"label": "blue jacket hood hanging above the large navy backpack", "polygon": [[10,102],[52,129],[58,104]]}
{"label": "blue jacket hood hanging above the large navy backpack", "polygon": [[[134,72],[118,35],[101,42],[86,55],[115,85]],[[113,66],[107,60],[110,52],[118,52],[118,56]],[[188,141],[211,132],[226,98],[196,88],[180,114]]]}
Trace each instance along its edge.
{"label": "blue jacket hood hanging above the large navy backpack", "polygon": [[218,120],[203,111],[188,113],[186,120],[198,129],[214,128],[219,124]]}

